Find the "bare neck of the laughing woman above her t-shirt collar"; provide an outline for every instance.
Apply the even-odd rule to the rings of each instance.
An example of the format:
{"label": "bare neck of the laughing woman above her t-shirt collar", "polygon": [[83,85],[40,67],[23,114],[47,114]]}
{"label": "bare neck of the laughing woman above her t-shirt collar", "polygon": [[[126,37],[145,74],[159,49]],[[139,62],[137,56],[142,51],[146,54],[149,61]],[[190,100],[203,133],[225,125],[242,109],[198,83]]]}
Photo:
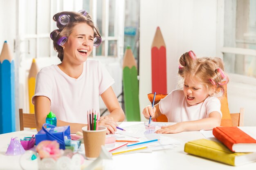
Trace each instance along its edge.
{"label": "bare neck of the laughing woman above her t-shirt collar", "polygon": [[61,62],[58,67],[68,76],[77,79],[83,73],[83,63],[80,65],[72,64],[69,62]]}

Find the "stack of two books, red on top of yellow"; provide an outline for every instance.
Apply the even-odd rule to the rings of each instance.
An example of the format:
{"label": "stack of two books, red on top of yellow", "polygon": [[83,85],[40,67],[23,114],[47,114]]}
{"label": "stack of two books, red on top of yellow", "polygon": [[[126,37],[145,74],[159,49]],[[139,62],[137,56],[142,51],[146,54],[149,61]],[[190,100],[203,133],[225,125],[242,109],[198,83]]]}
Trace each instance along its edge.
{"label": "stack of two books, red on top of yellow", "polygon": [[185,144],[184,152],[231,166],[256,161],[256,127],[217,127],[219,140],[198,139]]}

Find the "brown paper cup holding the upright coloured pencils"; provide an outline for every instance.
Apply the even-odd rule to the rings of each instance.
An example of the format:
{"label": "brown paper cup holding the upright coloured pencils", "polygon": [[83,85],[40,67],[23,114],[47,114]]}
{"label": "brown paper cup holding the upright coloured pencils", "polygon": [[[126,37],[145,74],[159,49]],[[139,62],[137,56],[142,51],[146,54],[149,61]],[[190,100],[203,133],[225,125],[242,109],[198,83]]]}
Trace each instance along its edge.
{"label": "brown paper cup holding the upright coloured pencils", "polygon": [[83,142],[85,146],[85,157],[94,160],[101,153],[101,145],[105,145],[107,128],[99,126],[99,130],[87,130],[87,126],[83,127]]}

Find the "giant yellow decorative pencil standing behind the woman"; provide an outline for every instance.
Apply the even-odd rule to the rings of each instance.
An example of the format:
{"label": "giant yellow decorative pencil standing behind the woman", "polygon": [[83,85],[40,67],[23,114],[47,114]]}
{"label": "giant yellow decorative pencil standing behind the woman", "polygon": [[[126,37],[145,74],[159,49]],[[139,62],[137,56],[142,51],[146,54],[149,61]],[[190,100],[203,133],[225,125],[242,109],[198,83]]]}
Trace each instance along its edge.
{"label": "giant yellow decorative pencil standing behind the woman", "polygon": [[35,87],[36,87],[36,75],[39,69],[36,64],[36,59],[33,58],[32,64],[29,70],[29,77],[28,77],[28,91],[29,91],[29,113],[35,113],[34,104],[32,104],[32,97],[35,94]]}

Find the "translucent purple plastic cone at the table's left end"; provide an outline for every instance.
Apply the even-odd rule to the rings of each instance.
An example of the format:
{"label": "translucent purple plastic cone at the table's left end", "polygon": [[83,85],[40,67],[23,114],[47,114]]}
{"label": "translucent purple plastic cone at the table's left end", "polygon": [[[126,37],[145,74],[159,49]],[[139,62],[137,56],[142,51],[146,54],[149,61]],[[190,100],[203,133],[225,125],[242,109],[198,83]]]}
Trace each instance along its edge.
{"label": "translucent purple plastic cone at the table's left end", "polygon": [[26,151],[20,144],[20,140],[18,139],[18,137],[12,137],[10,144],[7,148],[7,151],[5,152],[5,155],[21,155],[24,154],[25,152]]}

